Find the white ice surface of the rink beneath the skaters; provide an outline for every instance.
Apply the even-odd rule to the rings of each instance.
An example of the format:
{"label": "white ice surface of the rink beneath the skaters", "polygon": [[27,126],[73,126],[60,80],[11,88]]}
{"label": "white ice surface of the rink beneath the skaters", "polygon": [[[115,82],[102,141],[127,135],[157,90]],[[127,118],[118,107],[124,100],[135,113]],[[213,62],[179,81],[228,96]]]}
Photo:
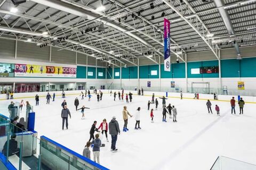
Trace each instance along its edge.
{"label": "white ice surface of the rink beneath the skaters", "polygon": [[[113,91],[114,92],[114,91]],[[15,96],[14,96],[15,97]],[[85,105],[91,109],[85,110],[85,120],[82,114],[75,111],[74,100],[78,97],[78,108]],[[45,135],[61,145],[82,154],[93,121],[98,121],[97,128],[103,118],[107,122],[115,115],[121,129],[118,135],[117,152],[111,152],[111,137],[106,141],[105,135],[100,137],[106,147],[100,151],[100,164],[113,170],[119,169],[175,169],[175,170],[205,170],[210,169],[219,156],[242,160],[256,164],[256,114],[255,104],[246,104],[244,115],[239,115],[236,105],[236,115],[231,115],[230,103],[226,101],[211,101],[213,114],[207,112],[206,100],[169,98],[177,108],[177,123],[173,123],[167,115],[167,122],[162,122],[162,99],[159,100],[158,110],[154,111],[154,121],[151,123],[150,112],[147,111],[147,101],[151,96],[133,95],[132,103],[114,101],[110,94],[103,94],[98,102],[95,95],[91,101],[87,97],[81,100],[79,95],[67,96],[68,108],[71,112],[69,129],[62,130],[60,96],[46,105],[45,97],[39,98],[39,106],[35,106],[34,98],[26,98],[34,106],[36,112],[35,130],[38,137]],[[10,101],[20,102],[21,99],[0,101],[0,112],[9,116],[7,106]],[[215,112],[215,104],[220,107],[220,116]],[[129,118],[128,132],[123,129],[123,106],[135,115],[137,107],[141,107],[141,130],[134,130],[134,117]],[[150,108],[155,109],[151,104]],[[23,108],[22,114],[25,114]],[[93,158],[91,151],[91,158]]]}

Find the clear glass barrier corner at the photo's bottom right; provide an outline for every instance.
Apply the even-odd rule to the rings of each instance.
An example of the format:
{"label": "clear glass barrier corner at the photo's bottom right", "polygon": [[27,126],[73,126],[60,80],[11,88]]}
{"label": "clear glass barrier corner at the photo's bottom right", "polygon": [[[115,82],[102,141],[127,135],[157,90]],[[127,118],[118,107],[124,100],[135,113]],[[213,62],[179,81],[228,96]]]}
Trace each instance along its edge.
{"label": "clear glass barrier corner at the photo's bottom right", "polygon": [[255,170],[256,165],[242,162],[240,160],[219,156],[210,170]]}

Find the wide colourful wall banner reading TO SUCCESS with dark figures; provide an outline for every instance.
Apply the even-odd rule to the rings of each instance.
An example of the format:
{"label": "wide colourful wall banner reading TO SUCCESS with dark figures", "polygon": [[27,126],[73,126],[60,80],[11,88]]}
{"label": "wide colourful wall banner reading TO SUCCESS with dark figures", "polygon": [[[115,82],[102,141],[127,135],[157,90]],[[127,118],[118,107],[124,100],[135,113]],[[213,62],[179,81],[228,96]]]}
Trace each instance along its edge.
{"label": "wide colourful wall banner reading TO SUCCESS with dark figures", "polygon": [[15,64],[14,77],[76,78],[76,68],[34,64]]}

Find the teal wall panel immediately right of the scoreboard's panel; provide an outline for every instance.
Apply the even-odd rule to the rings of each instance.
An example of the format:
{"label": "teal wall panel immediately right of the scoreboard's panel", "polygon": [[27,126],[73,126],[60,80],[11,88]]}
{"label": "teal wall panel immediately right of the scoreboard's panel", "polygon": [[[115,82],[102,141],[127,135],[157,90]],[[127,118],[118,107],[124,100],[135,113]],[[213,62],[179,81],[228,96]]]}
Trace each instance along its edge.
{"label": "teal wall panel immediately right of the scoreboard's panel", "polygon": [[240,61],[236,59],[221,60],[221,78],[238,78],[240,70]]}

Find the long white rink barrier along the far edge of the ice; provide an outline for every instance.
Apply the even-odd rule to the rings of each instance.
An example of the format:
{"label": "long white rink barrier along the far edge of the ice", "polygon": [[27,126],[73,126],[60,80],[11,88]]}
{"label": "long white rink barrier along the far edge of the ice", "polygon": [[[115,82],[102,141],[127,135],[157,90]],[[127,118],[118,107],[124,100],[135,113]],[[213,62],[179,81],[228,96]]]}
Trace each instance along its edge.
{"label": "long white rink barrier along the far edge of the ice", "polygon": [[[69,95],[80,95],[81,91],[85,92],[85,90],[67,90],[65,91],[65,95],[69,96]],[[97,92],[99,90],[97,89]],[[107,94],[110,92],[110,90],[101,90],[104,94]],[[116,92],[116,94],[119,92],[122,92],[122,90],[111,90],[114,94],[114,92]],[[53,92],[55,92],[56,96],[61,96],[62,91],[50,91],[49,93],[51,95],[53,95]],[[93,90],[90,90],[91,94],[93,95]],[[135,90],[124,90],[124,94],[129,94],[129,92],[131,92],[133,95],[138,95],[138,91]],[[45,92],[26,92],[26,93],[17,93],[14,94],[13,97],[14,99],[16,98],[32,98],[35,97],[36,95],[39,95],[39,97],[45,97],[47,95],[47,91]],[[165,96],[166,97],[166,92],[158,92],[158,91],[144,91],[143,95],[144,96],[149,96],[151,98],[152,94],[155,94],[156,97],[161,97],[161,96]],[[179,92],[167,92],[167,97],[173,97],[173,98],[180,98],[180,93]],[[184,99],[193,99],[195,97],[194,94],[188,94],[188,93],[183,93],[182,94],[182,98]],[[230,99],[233,96],[230,95],[218,95],[218,100],[220,101],[230,101]],[[234,96],[236,101],[238,100],[238,96]],[[243,98],[243,100],[246,103],[255,103],[256,104],[256,97],[255,96],[241,96]],[[0,95],[0,100],[4,100],[6,99],[6,94],[1,94]],[[200,100],[213,100],[213,95],[207,95],[207,94],[199,94],[199,99]]]}

